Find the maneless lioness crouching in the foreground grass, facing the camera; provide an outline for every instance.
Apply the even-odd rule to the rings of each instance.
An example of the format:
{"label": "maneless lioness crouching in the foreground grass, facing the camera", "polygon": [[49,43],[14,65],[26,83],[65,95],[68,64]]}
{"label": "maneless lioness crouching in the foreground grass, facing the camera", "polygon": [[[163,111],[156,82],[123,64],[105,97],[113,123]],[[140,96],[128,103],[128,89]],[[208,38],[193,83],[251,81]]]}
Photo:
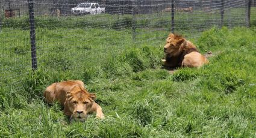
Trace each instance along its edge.
{"label": "maneless lioness crouching in the foreground grass, facing the camera", "polygon": [[48,103],[59,101],[64,106],[64,115],[70,119],[84,121],[88,113],[96,112],[97,118],[104,118],[101,106],[95,103],[95,94],[90,94],[80,80],[53,83],[43,93]]}

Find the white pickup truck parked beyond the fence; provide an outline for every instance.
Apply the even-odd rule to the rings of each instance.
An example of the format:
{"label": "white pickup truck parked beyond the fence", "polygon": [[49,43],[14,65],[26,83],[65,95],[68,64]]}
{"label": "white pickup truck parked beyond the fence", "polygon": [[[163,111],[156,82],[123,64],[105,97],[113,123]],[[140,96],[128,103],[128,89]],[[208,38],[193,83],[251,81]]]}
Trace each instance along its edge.
{"label": "white pickup truck parked beyond the fence", "polygon": [[75,15],[101,14],[105,13],[105,8],[99,7],[98,3],[80,3],[75,8],[71,8]]}

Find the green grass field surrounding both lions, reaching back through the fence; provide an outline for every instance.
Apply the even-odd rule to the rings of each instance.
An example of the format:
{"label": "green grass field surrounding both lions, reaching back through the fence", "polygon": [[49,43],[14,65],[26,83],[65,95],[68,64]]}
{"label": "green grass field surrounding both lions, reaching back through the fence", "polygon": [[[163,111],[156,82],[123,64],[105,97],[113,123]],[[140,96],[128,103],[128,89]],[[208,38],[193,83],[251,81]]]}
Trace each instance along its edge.
{"label": "green grass field surrounding both lions, reaching back through the fence", "polygon": [[[4,29],[1,137],[256,136],[254,27],[203,32],[192,41],[202,53],[213,52],[210,64],[174,74],[160,64],[167,31],[144,34],[160,39],[135,47],[127,43],[128,29],[70,28],[68,37],[62,29],[38,29],[39,70],[33,73],[29,31]],[[102,32],[109,37],[99,37]],[[69,122],[58,103],[43,101],[46,86],[68,79],[83,80],[96,93],[105,119],[91,115],[86,122]]]}

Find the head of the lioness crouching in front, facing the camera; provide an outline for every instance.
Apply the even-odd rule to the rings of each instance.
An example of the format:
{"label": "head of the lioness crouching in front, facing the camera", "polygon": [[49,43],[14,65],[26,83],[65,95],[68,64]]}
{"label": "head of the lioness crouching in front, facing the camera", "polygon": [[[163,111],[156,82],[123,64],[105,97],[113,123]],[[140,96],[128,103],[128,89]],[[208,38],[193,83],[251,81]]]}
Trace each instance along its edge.
{"label": "head of the lioness crouching in front, facing the camera", "polygon": [[66,92],[66,107],[72,112],[71,118],[79,121],[84,121],[87,118],[87,113],[91,112],[96,95],[90,94],[83,88],[72,89]]}

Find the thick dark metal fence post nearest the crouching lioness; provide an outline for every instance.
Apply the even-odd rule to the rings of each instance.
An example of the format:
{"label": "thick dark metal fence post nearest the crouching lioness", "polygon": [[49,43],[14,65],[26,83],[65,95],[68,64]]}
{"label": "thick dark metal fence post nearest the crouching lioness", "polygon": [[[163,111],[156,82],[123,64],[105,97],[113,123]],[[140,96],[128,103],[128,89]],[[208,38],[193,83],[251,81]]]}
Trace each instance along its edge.
{"label": "thick dark metal fence post nearest the crouching lioness", "polygon": [[37,70],[37,57],[36,57],[36,28],[34,21],[34,1],[28,0],[28,9],[30,14],[30,43],[31,43],[31,60],[32,69]]}

